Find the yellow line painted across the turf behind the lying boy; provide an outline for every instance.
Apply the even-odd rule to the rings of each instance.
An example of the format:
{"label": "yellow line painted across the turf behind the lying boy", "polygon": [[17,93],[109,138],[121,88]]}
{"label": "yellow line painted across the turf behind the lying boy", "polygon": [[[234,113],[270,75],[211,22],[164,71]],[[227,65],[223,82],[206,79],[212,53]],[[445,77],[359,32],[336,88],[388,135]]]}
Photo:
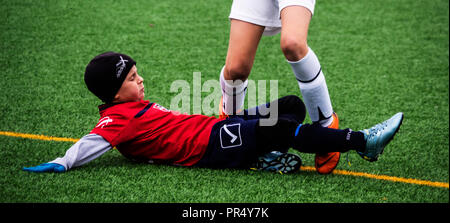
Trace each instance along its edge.
{"label": "yellow line painted across the turf behind the lying boy", "polygon": [[[58,141],[58,142],[77,142],[79,139],[74,138],[63,138],[63,137],[53,137],[53,136],[44,136],[44,135],[34,135],[34,134],[26,134],[26,133],[17,133],[17,132],[4,132],[0,131],[0,135],[11,136],[11,137],[20,137],[26,139],[37,139],[37,140],[46,140],[46,141]],[[303,171],[315,171],[316,168],[311,166],[302,166],[301,170]],[[412,178],[402,178],[402,177],[393,177],[387,175],[376,175],[370,173],[363,172],[353,172],[347,170],[334,170],[333,174],[337,175],[348,175],[348,176],[356,176],[356,177],[366,177],[377,180],[386,180],[392,182],[400,182],[400,183],[408,183],[408,184],[416,184],[416,185],[424,185],[430,187],[443,187],[449,188],[449,183],[445,182],[433,182],[427,180],[417,180]]]}

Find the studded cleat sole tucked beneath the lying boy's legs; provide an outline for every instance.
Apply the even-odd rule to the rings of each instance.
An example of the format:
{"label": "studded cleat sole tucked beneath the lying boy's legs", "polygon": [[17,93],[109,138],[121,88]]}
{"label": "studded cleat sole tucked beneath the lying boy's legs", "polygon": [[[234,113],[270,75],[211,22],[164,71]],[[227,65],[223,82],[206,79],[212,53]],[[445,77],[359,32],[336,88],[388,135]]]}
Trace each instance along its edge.
{"label": "studded cleat sole tucked beneath the lying boy's legs", "polygon": [[294,173],[300,170],[302,159],[292,153],[273,151],[258,158],[250,169],[277,172],[280,174]]}

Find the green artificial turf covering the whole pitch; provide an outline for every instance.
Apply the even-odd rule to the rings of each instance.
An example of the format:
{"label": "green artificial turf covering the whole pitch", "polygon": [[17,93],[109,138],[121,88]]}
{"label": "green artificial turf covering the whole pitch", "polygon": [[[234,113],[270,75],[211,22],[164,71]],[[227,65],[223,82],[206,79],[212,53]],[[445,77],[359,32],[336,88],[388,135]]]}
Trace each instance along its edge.
{"label": "green artificial turf covering the whole pitch", "polygon": [[[146,99],[169,107],[174,81],[186,80],[192,89],[193,72],[201,72],[202,83],[218,80],[230,6],[230,0],[2,1],[0,131],[89,133],[100,101],[84,85],[84,68],[105,51],[132,56]],[[351,153],[352,165],[344,155],[339,170],[448,184],[448,23],[445,0],[317,2],[308,44],[322,64],[341,128],[405,114],[378,162]],[[300,95],[279,41],[279,35],[262,38],[250,79],[277,80],[280,97]],[[0,202],[449,202],[448,188],[311,171],[144,165],[117,150],[64,174],[21,170],[63,156],[70,146],[0,135]],[[314,165],[313,155],[301,156]]]}

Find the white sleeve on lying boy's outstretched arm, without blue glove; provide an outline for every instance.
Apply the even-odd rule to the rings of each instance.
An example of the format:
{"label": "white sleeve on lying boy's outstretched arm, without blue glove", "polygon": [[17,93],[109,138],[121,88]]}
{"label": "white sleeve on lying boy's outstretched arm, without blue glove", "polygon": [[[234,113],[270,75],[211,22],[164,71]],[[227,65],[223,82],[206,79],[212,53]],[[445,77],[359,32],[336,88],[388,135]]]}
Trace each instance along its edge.
{"label": "white sleeve on lying boy's outstretched arm, without blue glove", "polygon": [[63,165],[67,171],[72,167],[81,166],[96,159],[111,148],[111,144],[109,144],[102,136],[89,134],[73,144],[73,146],[66,151],[64,157],[56,158],[49,163]]}

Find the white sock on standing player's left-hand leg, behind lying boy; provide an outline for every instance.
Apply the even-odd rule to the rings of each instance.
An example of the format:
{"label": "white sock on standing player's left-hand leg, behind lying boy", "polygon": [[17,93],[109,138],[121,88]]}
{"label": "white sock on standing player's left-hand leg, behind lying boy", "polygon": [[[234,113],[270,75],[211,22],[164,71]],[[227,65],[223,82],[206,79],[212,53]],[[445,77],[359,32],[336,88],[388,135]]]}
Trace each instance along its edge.
{"label": "white sock on standing player's left-hand leg, behind lying boy", "polygon": [[222,68],[220,72],[220,86],[222,87],[223,112],[227,115],[238,114],[244,107],[248,80],[225,80]]}

